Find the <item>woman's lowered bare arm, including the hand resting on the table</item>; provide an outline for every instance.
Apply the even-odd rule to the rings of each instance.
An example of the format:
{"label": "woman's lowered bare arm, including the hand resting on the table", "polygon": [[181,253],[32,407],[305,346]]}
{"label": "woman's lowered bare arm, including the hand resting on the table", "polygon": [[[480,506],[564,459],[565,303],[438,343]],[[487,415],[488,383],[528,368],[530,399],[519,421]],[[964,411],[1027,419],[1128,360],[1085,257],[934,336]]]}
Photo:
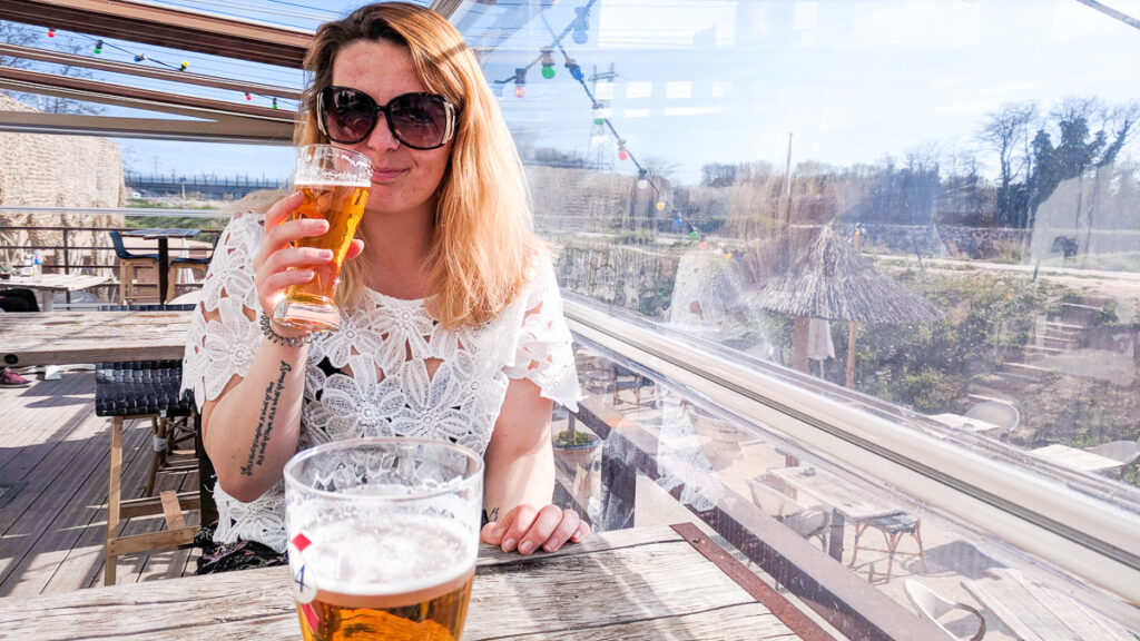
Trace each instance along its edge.
{"label": "woman's lowered bare arm, including the hand resting on the table", "polygon": [[553,552],[589,536],[589,526],[554,496],[553,401],[527,379],[512,380],[483,456],[488,524],[482,539],[503,551]]}

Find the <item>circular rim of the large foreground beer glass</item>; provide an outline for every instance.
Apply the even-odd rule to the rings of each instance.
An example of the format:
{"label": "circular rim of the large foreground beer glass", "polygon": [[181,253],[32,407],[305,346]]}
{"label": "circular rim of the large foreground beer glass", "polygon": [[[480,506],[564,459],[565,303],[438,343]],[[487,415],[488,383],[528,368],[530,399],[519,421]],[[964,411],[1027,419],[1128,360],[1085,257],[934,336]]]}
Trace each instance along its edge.
{"label": "circular rim of the large foreground beer glass", "polygon": [[[340,492],[329,492],[327,489],[315,489],[302,484],[296,477],[296,470],[306,461],[312,459],[314,456],[326,454],[328,452],[335,452],[339,449],[355,449],[360,446],[369,445],[427,445],[433,447],[441,447],[443,449],[450,449],[451,452],[462,454],[469,461],[474,461],[475,466],[470,471],[463,472],[463,480],[461,482],[448,485],[439,489],[433,489],[431,492],[416,493],[410,495],[401,496],[370,496],[361,494],[343,494]],[[285,463],[285,469],[283,470],[285,478],[285,486],[295,487],[299,492],[304,492],[311,496],[320,496],[325,498],[331,498],[335,501],[353,501],[353,502],[369,502],[369,503],[417,503],[425,498],[434,498],[437,496],[443,496],[447,494],[455,494],[464,489],[469,489],[472,485],[481,481],[483,477],[483,457],[475,453],[474,449],[470,447],[450,443],[446,440],[439,440],[433,438],[404,438],[404,437],[368,437],[368,438],[349,438],[343,440],[334,440],[332,443],[323,443],[320,445],[312,446],[308,449],[302,449],[293,455],[292,459]]]}

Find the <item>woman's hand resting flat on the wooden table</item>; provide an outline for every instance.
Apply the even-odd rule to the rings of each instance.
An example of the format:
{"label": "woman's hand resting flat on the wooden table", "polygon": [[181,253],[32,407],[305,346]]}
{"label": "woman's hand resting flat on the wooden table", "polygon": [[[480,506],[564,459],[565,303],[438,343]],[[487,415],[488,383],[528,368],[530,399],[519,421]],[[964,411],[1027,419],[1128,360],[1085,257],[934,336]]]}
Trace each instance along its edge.
{"label": "woman's hand resting flat on the wooden table", "polygon": [[539,510],[530,503],[511,510],[499,521],[488,522],[480,533],[483,543],[498,545],[504,552],[518,550],[520,554],[530,554],[539,547],[554,552],[567,542],[580,543],[588,536],[589,525],[573,510],[556,505]]}

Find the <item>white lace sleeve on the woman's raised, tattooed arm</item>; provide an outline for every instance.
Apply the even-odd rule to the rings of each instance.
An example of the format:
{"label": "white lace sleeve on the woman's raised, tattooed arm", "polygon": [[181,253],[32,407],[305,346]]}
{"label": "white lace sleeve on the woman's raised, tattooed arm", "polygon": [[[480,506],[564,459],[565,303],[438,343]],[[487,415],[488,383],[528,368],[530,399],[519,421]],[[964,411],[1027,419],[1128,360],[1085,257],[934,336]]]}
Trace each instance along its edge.
{"label": "white lace sleeve on the woman's raised, tattooed arm", "polygon": [[182,356],[182,389],[194,391],[199,409],[217,399],[234,376],[249,372],[261,341],[253,285],[253,254],[261,235],[260,214],[236,216],[210,261]]}

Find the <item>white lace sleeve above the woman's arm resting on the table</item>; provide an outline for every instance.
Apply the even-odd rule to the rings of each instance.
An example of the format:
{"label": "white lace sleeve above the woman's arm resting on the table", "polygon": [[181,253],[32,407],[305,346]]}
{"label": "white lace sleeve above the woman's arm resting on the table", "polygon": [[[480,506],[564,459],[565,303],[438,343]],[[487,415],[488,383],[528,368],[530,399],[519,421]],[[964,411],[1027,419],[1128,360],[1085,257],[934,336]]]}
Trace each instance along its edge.
{"label": "white lace sleeve above the woman's arm resting on the table", "polygon": [[581,386],[554,268],[548,257],[544,257],[531,271],[522,330],[506,375],[529,379],[542,389],[544,397],[577,412]]}

